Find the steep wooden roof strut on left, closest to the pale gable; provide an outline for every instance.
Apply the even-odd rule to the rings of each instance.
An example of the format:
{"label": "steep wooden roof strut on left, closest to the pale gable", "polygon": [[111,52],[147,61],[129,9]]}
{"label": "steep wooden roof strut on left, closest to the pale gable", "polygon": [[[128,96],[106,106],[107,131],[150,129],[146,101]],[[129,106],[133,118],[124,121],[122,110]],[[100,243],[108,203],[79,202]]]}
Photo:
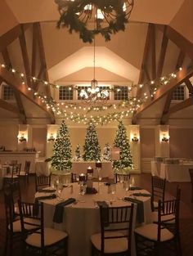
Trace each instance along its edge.
{"label": "steep wooden roof strut on left, closest to the pale gable", "polygon": [[[42,34],[41,26],[39,23],[36,23],[35,26],[38,34],[37,38],[38,38],[38,47],[39,47],[39,57],[40,57],[41,65],[43,67],[43,79],[45,79],[46,81],[49,81],[49,77],[47,73],[46,56],[45,56],[44,47],[43,47],[43,34]],[[49,86],[47,86],[47,96],[48,97],[51,96],[51,90]]]}

